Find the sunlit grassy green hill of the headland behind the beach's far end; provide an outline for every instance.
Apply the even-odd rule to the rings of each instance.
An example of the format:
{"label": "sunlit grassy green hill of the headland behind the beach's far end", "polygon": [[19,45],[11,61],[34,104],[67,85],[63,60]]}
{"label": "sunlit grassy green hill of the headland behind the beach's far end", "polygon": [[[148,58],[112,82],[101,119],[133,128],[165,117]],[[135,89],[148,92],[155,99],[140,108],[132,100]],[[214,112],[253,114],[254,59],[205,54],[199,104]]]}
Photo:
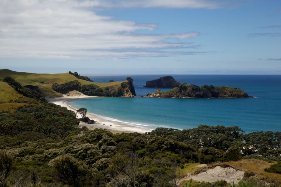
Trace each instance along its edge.
{"label": "sunlit grassy green hill of the headland behind the beach's far end", "polygon": [[[52,84],[64,84],[70,81],[77,80],[81,83],[81,85],[86,84],[94,84],[96,88],[109,88],[116,89],[121,86],[121,82],[111,82],[111,83],[95,83],[89,82],[82,79],[77,79],[75,76],[69,73],[62,74],[36,74],[36,73],[25,73],[25,72],[17,72],[7,69],[0,70],[0,81],[3,80],[4,77],[9,76],[15,79],[17,82],[21,83],[22,86],[25,85],[33,85],[38,86],[42,92],[43,96],[48,97],[60,97],[61,93],[57,93],[52,89]],[[45,84],[41,84],[40,82],[45,82]]]}

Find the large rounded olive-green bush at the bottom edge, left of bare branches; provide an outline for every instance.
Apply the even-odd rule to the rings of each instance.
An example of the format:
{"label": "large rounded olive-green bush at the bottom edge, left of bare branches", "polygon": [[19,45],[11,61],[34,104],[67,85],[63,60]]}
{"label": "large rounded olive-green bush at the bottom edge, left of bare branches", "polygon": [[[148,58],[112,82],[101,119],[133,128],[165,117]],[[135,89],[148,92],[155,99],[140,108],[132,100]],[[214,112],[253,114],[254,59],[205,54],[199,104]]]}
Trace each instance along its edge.
{"label": "large rounded olive-green bush at the bottom edge, left of bare branches", "polygon": [[59,156],[54,160],[53,168],[63,184],[81,187],[92,182],[92,173],[88,166],[72,156]]}

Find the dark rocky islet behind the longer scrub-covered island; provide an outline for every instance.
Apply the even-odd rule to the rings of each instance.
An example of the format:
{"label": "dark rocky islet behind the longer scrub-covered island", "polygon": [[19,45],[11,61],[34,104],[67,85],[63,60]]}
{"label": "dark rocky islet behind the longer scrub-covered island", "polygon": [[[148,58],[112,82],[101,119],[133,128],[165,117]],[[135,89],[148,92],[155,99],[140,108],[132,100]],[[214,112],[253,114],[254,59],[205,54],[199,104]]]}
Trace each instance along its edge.
{"label": "dark rocky islet behind the longer scrub-covered island", "polygon": [[182,84],[182,83],[175,81],[175,79],[173,77],[166,76],[166,77],[161,77],[159,79],[146,81],[146,84],[144,87],[175,88],[175,87],[179,86],[180,84]]}

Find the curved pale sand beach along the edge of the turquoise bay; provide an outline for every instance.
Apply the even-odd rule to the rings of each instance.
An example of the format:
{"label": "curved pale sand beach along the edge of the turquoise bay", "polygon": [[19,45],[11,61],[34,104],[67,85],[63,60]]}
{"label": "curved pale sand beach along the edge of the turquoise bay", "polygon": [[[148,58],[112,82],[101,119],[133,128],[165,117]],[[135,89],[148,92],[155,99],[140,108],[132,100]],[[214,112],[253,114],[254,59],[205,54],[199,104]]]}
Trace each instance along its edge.
{"label": "curved pale sand beach along the edge of the turquoise bay", "polygon": [[[69,100],[76,100],[76,99],[85,99],[85,98],[95,98],[98,96],[62,96],[62,97],[57,97],[57,98],[46,98],[46,100],[49,103],[54,103],[56,105],[60,105],[62,107],[66,107],[68,110],[74,111],[76,112],[77,109],[73,108],[70,105],[67,105],[65,102],[69,101]],[[95,114],[93,113],[88,113],[86,114],[87,117],[89,117],[90,119],[93,119],[95,121],[94,124],[87,124],[85,122],[81,122],[79,123],[79,126],[85,126],[87,127],[89,130],[93,130],[95,128],[102,128],[102,129],[107,129],[113,133],[122,133],[122,132],[139,132],[139,133],[145,133],[145,132],[150,132],[150,129],[145,129],[145,128],[141,128],[141,127],[134,127],[128,124],[123,124],[122,122],[115,122],[115,121],[110,121],[110,120],[106,120],[106,119],[102,119],[100,117],[97,117]],[[79,116],[77,116],[77,118],[79,118]]]}

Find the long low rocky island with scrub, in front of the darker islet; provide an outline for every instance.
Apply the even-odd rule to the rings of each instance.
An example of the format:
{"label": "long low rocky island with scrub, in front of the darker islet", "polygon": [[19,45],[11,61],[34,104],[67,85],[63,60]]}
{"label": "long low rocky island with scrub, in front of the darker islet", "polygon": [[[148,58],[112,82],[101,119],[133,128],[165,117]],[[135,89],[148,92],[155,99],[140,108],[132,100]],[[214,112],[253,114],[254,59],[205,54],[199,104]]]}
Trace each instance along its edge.
{"label": "long low rocky island with scrub, in front of the darker islet", "polygon": [[[154,82],[156,83],[157,81]],[[161,84],[157,84],[157,87],[158,85]],[[162,88],[169,88],[169,87],[162,85]],[[157,97],[157,98],[249,98],[250,97],[244,90],[239,88],[233,88],[229,86],[213,86],[213,85],[196,86],[194,84],[187,84],[187,83],[181,83],[179,86],[174,87],[172,90],[165,91],[165,92],[161,92],[161,90],[158,89],[155,91],[155,93],[148,93],[146,96]]]}

